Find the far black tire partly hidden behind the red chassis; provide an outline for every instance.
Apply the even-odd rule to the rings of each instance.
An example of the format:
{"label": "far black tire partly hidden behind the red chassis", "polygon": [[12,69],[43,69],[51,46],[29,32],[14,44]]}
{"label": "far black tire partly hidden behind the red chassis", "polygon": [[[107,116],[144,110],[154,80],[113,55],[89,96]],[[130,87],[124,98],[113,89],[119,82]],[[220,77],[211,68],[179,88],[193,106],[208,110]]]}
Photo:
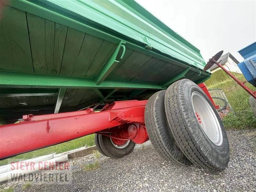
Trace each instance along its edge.
{"label": "far black tire partly hidden behind the red chassis", "polygon": [[130,140],[130,143],[125,148],[116,148],[110,141],[110,137],[99,134],[100,147],[102,151],[110,158],[122,158],[132,153],[135,143]]}

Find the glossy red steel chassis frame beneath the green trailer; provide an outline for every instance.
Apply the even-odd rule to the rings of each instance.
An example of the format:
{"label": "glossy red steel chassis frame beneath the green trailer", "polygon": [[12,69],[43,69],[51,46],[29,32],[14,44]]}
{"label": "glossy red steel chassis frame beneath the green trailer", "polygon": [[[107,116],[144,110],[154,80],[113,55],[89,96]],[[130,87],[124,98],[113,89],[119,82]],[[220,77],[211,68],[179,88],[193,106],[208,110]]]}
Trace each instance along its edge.
{"label": "glossy red steel chassis frame beneath the green trailer", "polygon": [[[214,104],[205,84],[198,86]],[[129,139],[141,144],[148,140],[144,122],[146,103],[147,100],[116,101],[100,112],[88,108],[68,113],[23,116],[20,123],[0,126],[0,159],[92,133],[111,134],[117,144]]]}

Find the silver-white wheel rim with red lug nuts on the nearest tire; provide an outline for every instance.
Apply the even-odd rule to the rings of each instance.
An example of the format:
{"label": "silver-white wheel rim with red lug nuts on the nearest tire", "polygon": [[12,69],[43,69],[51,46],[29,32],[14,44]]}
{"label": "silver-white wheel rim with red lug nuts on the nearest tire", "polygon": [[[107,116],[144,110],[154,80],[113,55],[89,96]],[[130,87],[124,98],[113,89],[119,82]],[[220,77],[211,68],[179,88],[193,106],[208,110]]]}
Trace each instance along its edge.
{"label": "silver-white wheel rim with red lug nuts on the nearest tire", "polygon": [[192,105],[198,122],[214,145],[222,145],[220,123],[208,101],[199,92],[192,93]]}

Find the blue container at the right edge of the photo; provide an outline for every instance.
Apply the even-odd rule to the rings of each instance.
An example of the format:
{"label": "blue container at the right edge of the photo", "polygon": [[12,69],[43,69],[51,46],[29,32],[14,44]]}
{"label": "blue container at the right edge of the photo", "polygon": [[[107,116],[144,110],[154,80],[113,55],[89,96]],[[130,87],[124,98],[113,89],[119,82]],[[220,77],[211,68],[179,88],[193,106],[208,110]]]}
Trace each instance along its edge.
{"label": "blue container at the right edge of the photo", "polygon": [[244,62],[237,66],[242,71],[245,79],[256,87],[256,42],[238,51],[244,58]]}

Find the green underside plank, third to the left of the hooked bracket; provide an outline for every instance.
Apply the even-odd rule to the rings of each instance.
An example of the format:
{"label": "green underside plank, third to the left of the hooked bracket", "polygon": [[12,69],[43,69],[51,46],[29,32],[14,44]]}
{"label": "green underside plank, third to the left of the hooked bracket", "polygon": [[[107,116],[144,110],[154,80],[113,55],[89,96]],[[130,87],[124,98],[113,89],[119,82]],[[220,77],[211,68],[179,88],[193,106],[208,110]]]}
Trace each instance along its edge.
{"label": "green underside plank, third to the left of the hooked bracket", "polygon": [[83,32],[68,28],[60,75],[72,75],[84,36],[85,34]]}

